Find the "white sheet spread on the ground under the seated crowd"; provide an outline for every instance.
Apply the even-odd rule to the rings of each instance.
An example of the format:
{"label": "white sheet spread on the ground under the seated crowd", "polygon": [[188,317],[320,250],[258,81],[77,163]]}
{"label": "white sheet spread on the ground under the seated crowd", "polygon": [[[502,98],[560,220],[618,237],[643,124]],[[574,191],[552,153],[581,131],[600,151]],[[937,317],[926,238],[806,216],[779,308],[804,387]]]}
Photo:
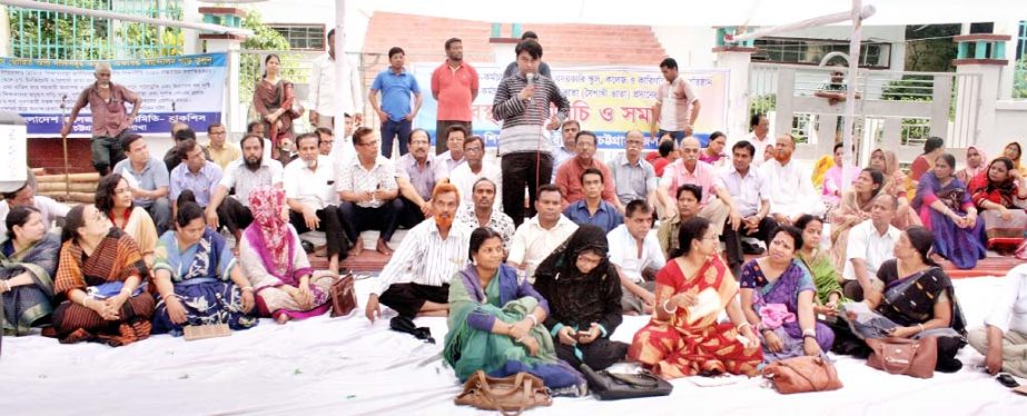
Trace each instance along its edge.
{"label": "white sheet spread on the ground under the seated crowd", "polygon": [[[365,296],[368,280],[357,290]],[[987,314],[997,278],[956,281],[971,327]],[[362,301],[365,297],[362,297]],[[389,316],[392,313],[389,313]],[[628,317],[614,338],[630,341],[645,317]],[[441,358],[446,325],[419,318],[440,344],[423,344],[368,324],[362,316],[259,326],[227,338],[185,341],[167,335],[122,348],[60,345],[40,336],[3,339],[0,414],[3,415],[451,415],[461,390]],[[553,415],[1025,415],[1018,396],[981,369],[967,346],[964,369],[931,379],[891,376],[863,361],[836,357],[845,388],[779,395],[759,378],[721,387],[674,380],[669,397],[599,402],[556,398],[532,414]],[[1020,380],[1027,383],[1027,380]]]}

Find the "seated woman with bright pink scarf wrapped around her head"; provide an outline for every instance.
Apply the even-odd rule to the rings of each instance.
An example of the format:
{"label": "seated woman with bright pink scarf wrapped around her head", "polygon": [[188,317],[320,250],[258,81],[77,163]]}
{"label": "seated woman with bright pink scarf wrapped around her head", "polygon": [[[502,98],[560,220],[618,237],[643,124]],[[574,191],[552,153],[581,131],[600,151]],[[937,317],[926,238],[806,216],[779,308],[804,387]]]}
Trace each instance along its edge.
{"label": "seated woman with bright pink scarf wrapped around her head", "polygon": [[278,324],[328,311],[328,291],[334,280],[330,274],[314,273],[299,235],[282,215],[284,208],[282,189],[260,187],[250,191],[254,222],[246,227],[239,242],[239,263],[254,287],[257,310]]}

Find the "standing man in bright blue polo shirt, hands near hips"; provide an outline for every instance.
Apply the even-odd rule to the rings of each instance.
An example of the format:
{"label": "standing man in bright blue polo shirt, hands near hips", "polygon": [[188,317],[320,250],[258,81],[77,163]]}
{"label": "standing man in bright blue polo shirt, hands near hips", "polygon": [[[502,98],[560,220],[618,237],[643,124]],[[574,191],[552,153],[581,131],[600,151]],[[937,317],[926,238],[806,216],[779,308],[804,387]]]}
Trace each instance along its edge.
{"label": "standing man in bright blue polo shirt, hands near hips", "polygon": [[[382,120],[382,156],[392,157],[393,139],[398,136],[399,156],[406,155],[411,138],[411,125],[421,110],[423,97],[421,87],[413,73],[403,69],[406,53],[399,47],[388,50],[388,69],[379,72],[371,85],[367,99]],[[382,105],[378,106],[377,92],[382,91]],[[414,95],[414,108],[411,110],[411,95]]]}

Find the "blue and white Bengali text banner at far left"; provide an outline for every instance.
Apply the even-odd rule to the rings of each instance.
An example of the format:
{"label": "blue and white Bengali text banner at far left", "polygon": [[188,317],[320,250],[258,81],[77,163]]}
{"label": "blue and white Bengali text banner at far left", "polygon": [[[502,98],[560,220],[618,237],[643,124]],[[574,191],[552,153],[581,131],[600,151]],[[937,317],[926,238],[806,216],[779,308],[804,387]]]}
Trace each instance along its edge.
{"label": "blue and white Bengali text banner at far left", "polygon": [[[225,53],[110,61],[111,81],[128,87],[142,99],[132,122],[134,132],[168,133],[181,121],[194,130],[221,121]],[[67,116],[79,95],[96,81],[95,61],[0,58],[0,110],[17,112],[29,137],[56,137],[61,115]],[[63,103],[65,109],[61,109]],[[131,105],[128,105],[131,111]],[[90,137],[89,107],[79,112],[72,137]]]}

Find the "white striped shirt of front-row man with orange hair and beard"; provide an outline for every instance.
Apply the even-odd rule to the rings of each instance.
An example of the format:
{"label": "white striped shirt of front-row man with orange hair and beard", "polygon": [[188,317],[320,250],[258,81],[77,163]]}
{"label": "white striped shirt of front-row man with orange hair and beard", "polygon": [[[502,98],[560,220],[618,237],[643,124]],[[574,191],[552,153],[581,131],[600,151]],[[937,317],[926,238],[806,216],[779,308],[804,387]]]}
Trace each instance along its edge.
{"label": "white striped shirt of front-row man with orange hair and beard", "polygon": [[403,237],[399,248],[382,269],[381,286],[372,294],[382,295],[396,283],[442,286],[467,264],[471,235],[454,222],[445,239],[438,234],[435,219],[421,221]]}

